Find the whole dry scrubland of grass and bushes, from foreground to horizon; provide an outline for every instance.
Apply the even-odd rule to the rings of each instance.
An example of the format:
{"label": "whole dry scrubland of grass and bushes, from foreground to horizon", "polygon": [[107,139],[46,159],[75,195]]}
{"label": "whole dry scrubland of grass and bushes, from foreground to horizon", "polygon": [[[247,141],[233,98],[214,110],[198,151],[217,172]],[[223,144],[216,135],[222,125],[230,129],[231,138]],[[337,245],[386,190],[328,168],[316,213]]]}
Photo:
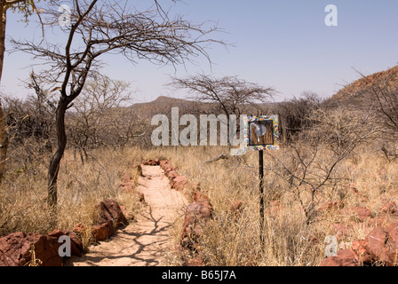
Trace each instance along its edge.
{"label": "whole dry scrubland of grass and bushes, from foreground to horizon", "polygon": [[[52,107],[36,97],[4,96],[9,151],[0,187],[0,236],[91,225],[95,205],[106,198],[138,211],[137,196],[123,192],[121,179],[124,174],[137,178],[137,165],[156,158],[170,160],[190,182],[199,183],[214,210],[195,254],[171,248],[170,264],[199,256],[209,265],[319,265],[328,236],[338,237],[339,249],[350,248],[374,227],[398,221],[396,80],[395,67],[364,76],[330,99],[306,93],[251,105],[259,114],[279,114],[282,121],[281,149],[264,155],[263,243],[258,153],[231,156],[231,146],[151,146],[151,114],[168,114],[175,100],[123,106],[123,88],[117,91],[123,83],[96,99],[89,99],[90,91],[100,86],[89,84],[87,97],[68,110],[68,148],[60,163],[54,218],[47,202],[56,141]],[[179,100],[186,114],[196,114],[196,103]],[[223,111],[217,103],[208,106],[203,113]],[[221,154],[225,158],[214,161]],[[230,208],[237,201],[243,205],[236,215]],[[174,228],[176,243],[182,219]],[[85,248],[92,243],[86,239]]]}

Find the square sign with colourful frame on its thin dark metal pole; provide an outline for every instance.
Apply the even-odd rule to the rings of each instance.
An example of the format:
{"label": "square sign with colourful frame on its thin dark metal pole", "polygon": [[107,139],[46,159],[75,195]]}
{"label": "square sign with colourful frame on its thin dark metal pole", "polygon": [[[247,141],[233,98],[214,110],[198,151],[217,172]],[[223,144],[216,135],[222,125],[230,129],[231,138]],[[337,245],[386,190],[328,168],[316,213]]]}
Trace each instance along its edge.
{"label": "square sign with colourful frame on its thin dark metal pole", "polygon": [[244,140],[252,151],[259,151],[259,217],[260,241],[264,242],[264,150],[279,150],[278,115],[248,116],[245,119]]}

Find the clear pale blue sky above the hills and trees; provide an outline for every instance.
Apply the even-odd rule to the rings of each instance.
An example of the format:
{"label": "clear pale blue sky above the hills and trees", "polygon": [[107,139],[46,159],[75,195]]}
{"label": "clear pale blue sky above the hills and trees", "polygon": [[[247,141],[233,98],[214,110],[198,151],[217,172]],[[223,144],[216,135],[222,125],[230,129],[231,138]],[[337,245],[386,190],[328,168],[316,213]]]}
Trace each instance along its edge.
{"label": "clear pale blue sky above the hills and trees", "polygon": [[[135,1],[132,3],[147,3]],[[272,86],[276,100],[314,91],[330,97],[346,83],[365,75],[398,65],[397,0],[184,0],[172,4],[160,1],[171,12],[187,20],[214,20],[226,33],[218,39],[234,43],[227,49],[211,45],[209,54],[214,65],[197,59],[196,65],[158,67],[139,61],[132,66],[120,56],[106,56],[103,71],[111,78],[131,82],[135,102],[158,96],[183,97],[164,86],[170,75],[186,77],[196,73],[215,76],[238,75],[263,86]],[[68,1],[65,1],[68,4]],[[338,26],[325,25],[325,7],[338,8]],[[40,36],[35,25],[25,27],[9,14],[7,35],[15,38]],[[9,44],[6,45],[6,48]],[[23,53],[6,53],[1,91],[25,96],[28,92],[19,80],[28,78],[32,59]]]}

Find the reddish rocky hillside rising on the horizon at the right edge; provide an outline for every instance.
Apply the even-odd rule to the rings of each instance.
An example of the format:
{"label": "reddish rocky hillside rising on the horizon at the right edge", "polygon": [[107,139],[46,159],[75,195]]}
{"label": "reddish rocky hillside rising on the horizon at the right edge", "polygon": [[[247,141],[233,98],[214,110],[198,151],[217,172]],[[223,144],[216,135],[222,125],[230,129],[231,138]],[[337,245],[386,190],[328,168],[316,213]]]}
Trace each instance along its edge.
{"label": "reddish rocky hillside rising on the horizon at the right edge", "polygon": [[327,103],[339,106],[363,106],[369,103],[366,96],[372,91],[372,87],[386,88],[386,85],[392,89],[398,88],[398,66],[364,76],[354,83],[348,84],[328,99]]}

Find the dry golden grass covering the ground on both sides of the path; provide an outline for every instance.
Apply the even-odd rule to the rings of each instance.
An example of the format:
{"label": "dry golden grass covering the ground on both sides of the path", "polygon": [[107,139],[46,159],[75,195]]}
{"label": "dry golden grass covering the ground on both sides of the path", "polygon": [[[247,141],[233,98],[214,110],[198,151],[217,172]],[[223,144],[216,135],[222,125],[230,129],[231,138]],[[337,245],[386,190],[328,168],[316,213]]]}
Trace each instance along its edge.
{"label": "dry golden grass covering the ground on both sides of the path", "polygon": [[[114,198],[127,209],[138,210],[139,202],[119,186],[123,173],[136,175],[133,166],[143,159],[170,159],[179,174],[186,175],[192,183],[201,184],[214,207],[214,217],[206,227],[199,249],[199,256],[206,264],[318,265],[324,258],[326,236],[335,234],[332,224],[351,222],[349,217],[342,210],[332,209],[307,225],[301,203],[287,181],[267,171],[267,213],[262,244],[259,238],[258,154],[250,152],[205,163],[227,153],[227,147],[159,147],[147,151],[131,148],[123,153],[102,150],[92,152],[95,158],[84,165],[68,153],[60,169],[57,222],[51,219],[45,205],[47,160],[38,159],[29,166],[9,163],[0,189],[0,233],[48,233],[55,227],[71,229],[77,223],[90,225],[95,205],[106,198]],[[265,163],[266,168],[271,166],[267,159]],[[323,188],[316,197],[317,204],[341,200],[345,207],[364,206],[372,214],[378,214],[383,202],[398,200],[397,167],[397,162],[386,162],[382,154],[371,148],[358,150],[338,167],[337,174],[344,179],[338,185]],[[360,194],[354,193],[353,187]],[[306,201],[305,192],[302,198]],[[230,210],[235,201],[244,204],[239,217]],[[181,223],[182,217],[173,226],[176,242]],[[363,238],[369,227],[367,223],[354,223],[352,231],[344,241]],[[182,259],[187,257],[176,256],[176,252],[168,255],[168,264],[174,265],[183,264]]]}

